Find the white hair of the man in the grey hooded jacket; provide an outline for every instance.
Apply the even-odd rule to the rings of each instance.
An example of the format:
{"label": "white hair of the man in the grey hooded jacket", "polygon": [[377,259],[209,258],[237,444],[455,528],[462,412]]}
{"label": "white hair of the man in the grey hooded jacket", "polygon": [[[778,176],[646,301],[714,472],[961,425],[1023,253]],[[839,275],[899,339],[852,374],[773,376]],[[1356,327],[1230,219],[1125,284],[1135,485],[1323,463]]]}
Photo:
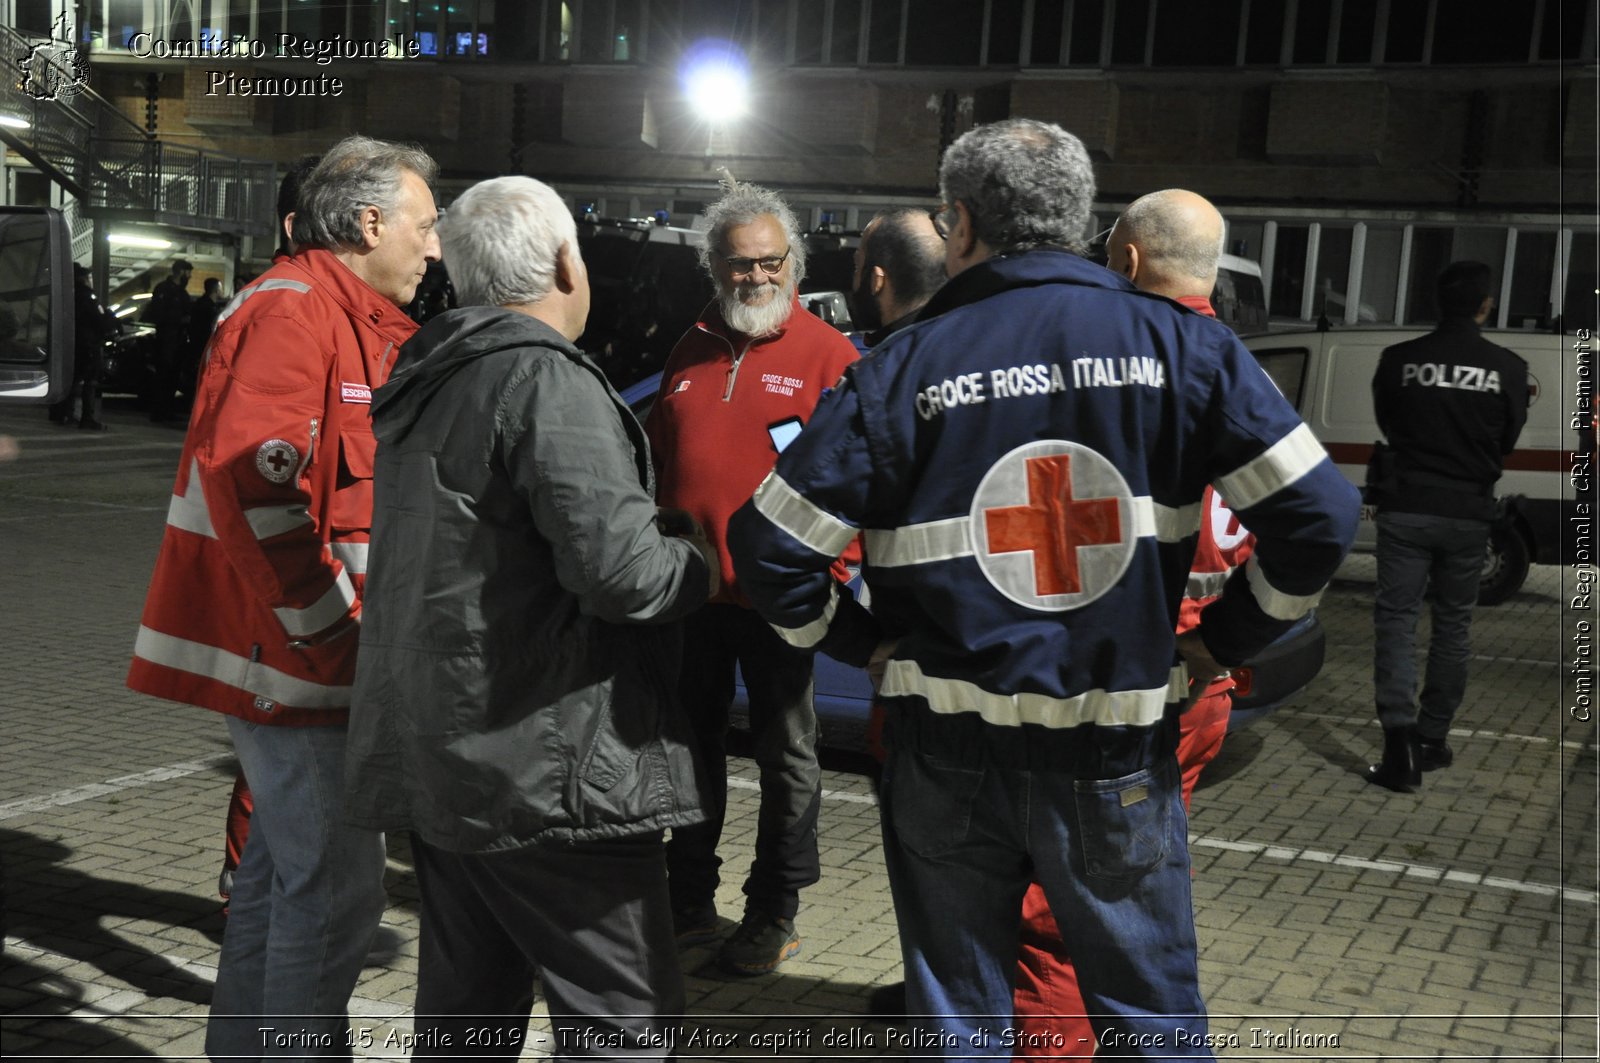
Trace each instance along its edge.
{"label": "white hair of the man in the grey hooded jacket", "polygon": [[493,178],[450,205],[438,242],[461,306],[522,306],[550,293],[563,243],[578,255],[578,223],[549,184]]}

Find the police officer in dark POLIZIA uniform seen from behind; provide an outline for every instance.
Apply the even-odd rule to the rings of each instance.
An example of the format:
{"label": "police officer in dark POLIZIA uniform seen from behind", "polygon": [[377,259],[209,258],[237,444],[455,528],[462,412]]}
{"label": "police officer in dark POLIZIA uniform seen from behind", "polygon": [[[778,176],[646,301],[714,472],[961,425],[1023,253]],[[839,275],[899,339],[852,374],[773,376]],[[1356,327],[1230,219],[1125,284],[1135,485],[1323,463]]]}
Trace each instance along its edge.
{"label": "police officer in dark POLIZIA uniform seen from behind", "polygon": [[[1494,482],[1528,419],[1528,363],[1485,339],[1490,267],[1438,275],[1440,323],[1378,362],[1373,407],[1389,440],[1371,475],[1378,506],[1373,679],[1384,757],[1366,778],[1398,792],[1453,760],[1445,738],[1467,688],[1467,629],[1494,517]],[[1416,620],[1432,604],[1421,711]]]}

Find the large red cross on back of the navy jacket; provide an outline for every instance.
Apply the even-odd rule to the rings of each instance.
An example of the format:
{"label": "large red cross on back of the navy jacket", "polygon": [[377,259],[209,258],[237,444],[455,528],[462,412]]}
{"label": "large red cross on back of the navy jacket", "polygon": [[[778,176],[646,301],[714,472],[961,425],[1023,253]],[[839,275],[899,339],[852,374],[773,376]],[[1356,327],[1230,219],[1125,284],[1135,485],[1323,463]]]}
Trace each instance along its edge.
{"label": "large red cross on back of the navy jacket", "polygon": [[986,509],[989,552],[1034,552],[1034,589],[1082,594],[1078,548],[1122,541],[1115,498],[1072,498],[1072,455],[1027,459],[1027,504]]}

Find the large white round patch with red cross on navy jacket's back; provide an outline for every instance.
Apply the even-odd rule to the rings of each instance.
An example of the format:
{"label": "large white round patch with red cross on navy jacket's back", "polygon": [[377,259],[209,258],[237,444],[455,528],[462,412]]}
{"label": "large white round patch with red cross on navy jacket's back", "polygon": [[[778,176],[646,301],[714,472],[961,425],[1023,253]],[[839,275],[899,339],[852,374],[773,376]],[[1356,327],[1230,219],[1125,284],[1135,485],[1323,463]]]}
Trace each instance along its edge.
{"label": "large white round patch with red cross on navy jacket's back", "polygon": [[1104,455],[1046,439],[1000,458],[971,511],[978,567],[1000,594],[1050,613],[1082,608],[1133,562],[1134,503]]}

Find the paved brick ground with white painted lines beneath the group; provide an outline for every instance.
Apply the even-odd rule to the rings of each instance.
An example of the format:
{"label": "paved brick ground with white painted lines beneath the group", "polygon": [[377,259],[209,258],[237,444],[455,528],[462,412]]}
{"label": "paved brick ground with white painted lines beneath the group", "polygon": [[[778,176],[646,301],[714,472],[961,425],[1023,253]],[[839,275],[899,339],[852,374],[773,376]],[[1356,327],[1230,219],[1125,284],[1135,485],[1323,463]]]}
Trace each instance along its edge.
{"label": "paved brick ground with white painted lines beneath the group", "polygon": [[[221,717],[123,688],[179,432],[112,405],[106,434],[0,413],[24,456],[0,467],[0,853],[6,937],[0,1055],[202,1058],[222,929],[216,900],[234,760]],[[1536,567],[1478,612],[1456,764],[1419,794],[1358,773],[1371,716],[1370,557],[1322,605],[1318,680],[1229,738],[1190,821],[1202,983],[1221,1058],[1595,1060],[1597,746],[1570,711],[1573,572]],[[1592,660],[1592,658],[1590,658]],[[850,728],[832,738],[858,746]],[[848,752],[848,751],[846,751]],[[859,757],[826,775],[824,877],[805,948],[779,973],[728,978],[683,954],[680,1058],[890,1058],[904,1034],[866,1017],[901,977]],[[718,903],[741,909],[754,767],[733,765]],[[358,1058],[403,1058],[416,882],[390,842],[398,949],[352,1002]],[[552,1055],[538,1017],[525,1058]],[[1115,1058],[1102,1053],[1102,1058]]]}

